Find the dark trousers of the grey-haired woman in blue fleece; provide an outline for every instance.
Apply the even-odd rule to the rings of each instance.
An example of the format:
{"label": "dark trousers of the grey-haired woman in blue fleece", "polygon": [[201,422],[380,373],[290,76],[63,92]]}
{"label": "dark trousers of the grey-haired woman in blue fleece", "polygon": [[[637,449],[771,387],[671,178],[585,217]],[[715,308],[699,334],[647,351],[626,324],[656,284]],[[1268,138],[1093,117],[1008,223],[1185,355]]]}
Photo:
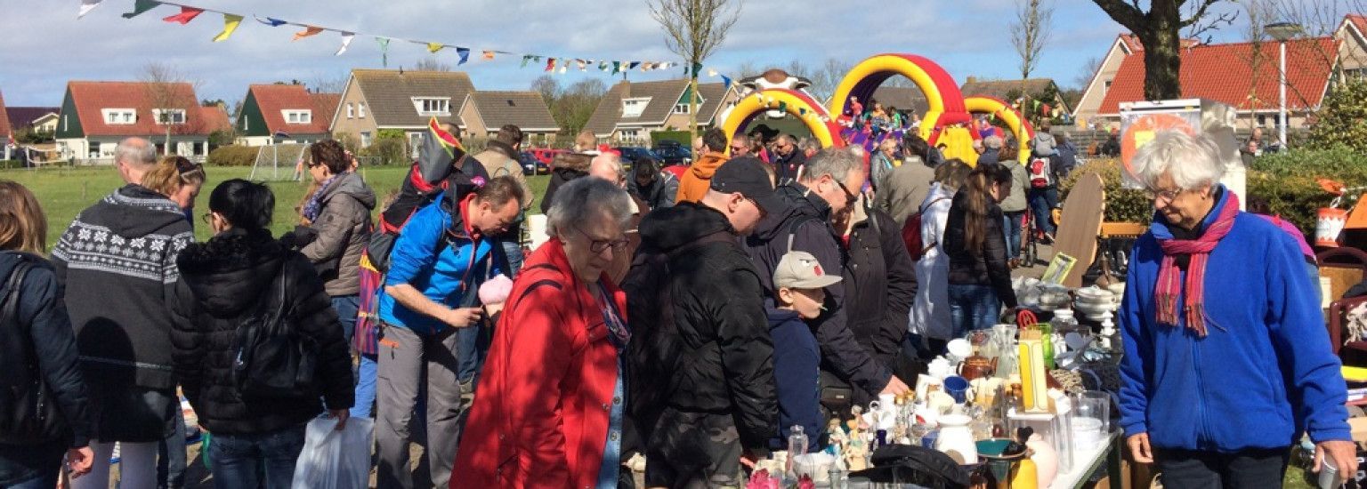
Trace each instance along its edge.
{"label": "dark trousers of the grey-haired woman in blue fleece", "polygon": [[1154,462],[1166,489],[1275,489],[1282,486],[1290,448],[1218,453],[1154,449]]}

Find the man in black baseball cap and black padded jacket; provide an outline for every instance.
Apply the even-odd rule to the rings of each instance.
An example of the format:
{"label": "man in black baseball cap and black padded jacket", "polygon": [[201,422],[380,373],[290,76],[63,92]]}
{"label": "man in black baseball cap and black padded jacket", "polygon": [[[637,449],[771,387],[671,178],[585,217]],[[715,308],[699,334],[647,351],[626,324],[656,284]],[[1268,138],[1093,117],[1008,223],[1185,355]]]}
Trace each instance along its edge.
{"label": "man in black baseball cap and black padded jacket", "polygon": [[760,272],[738,240],[783,205],[760,165],[727,161],[701,202],[641,221],[622,290],[647,486],[738,486],[742,451],[763,451],[778,433]]}

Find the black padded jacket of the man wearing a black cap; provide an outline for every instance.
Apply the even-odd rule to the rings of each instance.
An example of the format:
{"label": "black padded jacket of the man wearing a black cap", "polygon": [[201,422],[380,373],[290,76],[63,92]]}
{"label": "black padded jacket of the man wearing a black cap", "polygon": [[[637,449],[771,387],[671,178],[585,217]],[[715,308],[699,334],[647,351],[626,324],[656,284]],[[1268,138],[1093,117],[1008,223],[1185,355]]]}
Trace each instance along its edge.
{"label": "black padded jacket of the man wearing a black cap", "polygon": [[[667,254],[668,272],[653,281],[649,264]],[[648,421],[663,408],[729,414],[748,448],[767,447],[778,433],[774,341],[759,273],[720,212],[681,202],[641,221],[641,247],[622,288],[634,318],[629,406],[648,445],[663,443],[677,453],[667,447],[673,437],[652,433]],[[668,303],[660,303],[659,287],[668,288]],[[673,307],[670,331],[652,321],[664,307]]]}

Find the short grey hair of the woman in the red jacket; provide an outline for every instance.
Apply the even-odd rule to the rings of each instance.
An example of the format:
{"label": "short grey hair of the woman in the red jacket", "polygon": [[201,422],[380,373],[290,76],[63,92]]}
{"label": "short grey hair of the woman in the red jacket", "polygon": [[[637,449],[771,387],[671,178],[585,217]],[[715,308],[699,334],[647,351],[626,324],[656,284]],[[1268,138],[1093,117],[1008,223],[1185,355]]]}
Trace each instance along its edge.
{"label": "short grey hair of the woman in the red jacket", "polygon": [[551,209],[545,212],[545,232],[565,238],[574,225],[585,225],[600,216],[611,217],[626,228],[632,220],[632,198],[614,182],[577,178],[555,190]]}

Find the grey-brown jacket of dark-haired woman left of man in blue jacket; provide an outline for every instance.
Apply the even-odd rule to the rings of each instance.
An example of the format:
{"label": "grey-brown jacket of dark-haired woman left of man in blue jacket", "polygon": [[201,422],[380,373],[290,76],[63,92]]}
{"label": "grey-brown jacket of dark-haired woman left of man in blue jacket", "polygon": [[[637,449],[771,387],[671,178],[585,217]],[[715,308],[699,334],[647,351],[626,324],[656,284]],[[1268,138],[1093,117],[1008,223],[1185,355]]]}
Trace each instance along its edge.
{"label": "grey-brown jacket of dark-haired woman left of man in blue jacket", "polygon": [[355,295],[361,291],[361,253],[370,242],[375,193],[353,172],[319,191],[323,209],[312,224],[319,238],[299,251],[319,269],[328,295]]}

